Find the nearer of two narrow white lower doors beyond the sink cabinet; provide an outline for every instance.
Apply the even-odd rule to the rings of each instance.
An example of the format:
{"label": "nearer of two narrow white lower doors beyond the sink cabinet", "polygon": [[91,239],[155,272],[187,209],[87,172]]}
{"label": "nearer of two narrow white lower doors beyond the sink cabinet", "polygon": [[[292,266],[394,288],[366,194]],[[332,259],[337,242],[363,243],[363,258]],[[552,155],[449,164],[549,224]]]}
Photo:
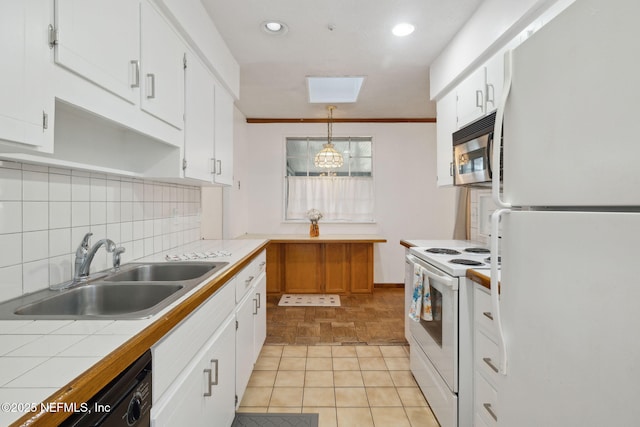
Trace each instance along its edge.
{"label": "nearer of two narrow white lower doors beyond the sink cabinet", "polygon": [[249,383],[253,371],[253,317],[257,312],[257,301],[250,292],[236,308],[236,395],[238,403],[242,400],[244,391]]}

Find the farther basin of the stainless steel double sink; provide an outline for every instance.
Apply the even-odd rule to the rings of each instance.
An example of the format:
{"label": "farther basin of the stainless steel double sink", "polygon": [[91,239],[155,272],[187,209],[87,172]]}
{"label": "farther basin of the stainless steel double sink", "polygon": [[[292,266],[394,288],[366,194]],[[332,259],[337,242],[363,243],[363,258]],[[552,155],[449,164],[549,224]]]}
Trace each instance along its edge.
{"label": "farther basin of the stainless steel double sink", "polygon": [[140,264],[105,278],[107,282],[175,282],[201,277],[227,263]]}

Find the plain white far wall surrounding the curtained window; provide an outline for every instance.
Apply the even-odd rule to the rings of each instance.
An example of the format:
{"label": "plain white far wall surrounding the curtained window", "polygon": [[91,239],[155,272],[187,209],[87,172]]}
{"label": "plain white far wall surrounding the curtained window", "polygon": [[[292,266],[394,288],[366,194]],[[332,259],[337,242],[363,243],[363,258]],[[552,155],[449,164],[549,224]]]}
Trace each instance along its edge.
{"label": "plain white far wall surrounding the curtained window", "polygon": [[[379,234],[387,243],[375,245],[376,283],[404,282],[401,239],[452,237],[455,189],[436,186],[436,127],[434,123],[338,123],[339,136],[372,136],[376,222],[329,224],[321,234]],[[326,136],[326,124],[246,125],[248,173],[248,233],[306,234],[309,224],[283,221],[285,138]]]}

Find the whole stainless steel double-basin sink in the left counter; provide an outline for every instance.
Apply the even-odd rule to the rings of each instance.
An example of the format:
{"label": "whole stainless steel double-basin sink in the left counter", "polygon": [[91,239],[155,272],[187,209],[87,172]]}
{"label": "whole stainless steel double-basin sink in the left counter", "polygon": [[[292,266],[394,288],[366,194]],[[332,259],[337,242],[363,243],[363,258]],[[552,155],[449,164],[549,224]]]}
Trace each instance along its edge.
{"label": "whole stainless steel double-basin sink in the left counter", "polygon": [[227,262],[132,263],[66,290],[0,304],[0,319],[143,319],[213,276]]}

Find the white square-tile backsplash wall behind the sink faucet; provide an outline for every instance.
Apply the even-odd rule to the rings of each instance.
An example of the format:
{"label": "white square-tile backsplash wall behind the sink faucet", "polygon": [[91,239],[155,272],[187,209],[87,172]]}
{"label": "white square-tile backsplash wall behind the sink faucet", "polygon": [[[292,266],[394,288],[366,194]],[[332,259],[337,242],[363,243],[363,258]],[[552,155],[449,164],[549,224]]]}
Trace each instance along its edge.
{"label": "white square-tile backsplash wall behind the sink faucet", "polygon": [[[122,262],[200,238],[200,189],[0,160],[0,301],[69,280],[87,232]],[[92,271],[111,267],[101,248]]]}

